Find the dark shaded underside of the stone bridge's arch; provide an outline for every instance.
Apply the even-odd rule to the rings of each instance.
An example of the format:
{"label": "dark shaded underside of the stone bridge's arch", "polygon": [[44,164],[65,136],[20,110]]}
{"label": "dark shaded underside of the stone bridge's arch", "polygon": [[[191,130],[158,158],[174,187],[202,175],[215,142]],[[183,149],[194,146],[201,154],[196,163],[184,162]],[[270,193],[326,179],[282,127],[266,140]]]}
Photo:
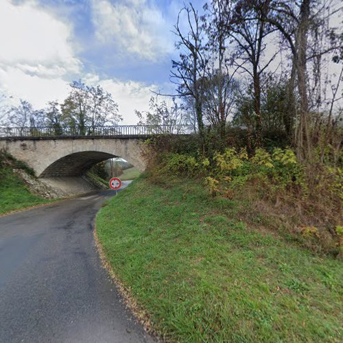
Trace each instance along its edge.
{"label": "dark shaded underside of the stone bridge's arch", "polygon": [[51,163],[41,174],[40,178],[54,176],[82,176],[86,171],[99,162],[117,157],[107,152],[84,151],[74,152]]}

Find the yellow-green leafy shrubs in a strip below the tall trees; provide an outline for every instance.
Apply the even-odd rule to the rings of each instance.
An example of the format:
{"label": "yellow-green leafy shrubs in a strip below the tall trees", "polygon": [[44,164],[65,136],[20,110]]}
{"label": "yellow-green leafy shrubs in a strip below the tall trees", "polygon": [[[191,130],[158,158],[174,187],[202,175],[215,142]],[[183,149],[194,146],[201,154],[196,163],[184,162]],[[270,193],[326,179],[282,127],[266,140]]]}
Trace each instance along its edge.
{"label": "yellow-green leafy shrubs in a strip below the tall trees", "polygon": [[[227,147],[224,152],[215,152],[212,158],[190,156],[187,154],[165,154],[160,171],[167,174],[184,176],[211,176],[220,189],[242,189],[252,178],[259,178],[261,185],[270,185],[270,191],[289,191],[296,189],[297,196],[306,197],[308,180],[305,167],[298,163],[293,150],[276,148],[272,153],[259,148],[248,156],[246,149],[237,151]],[[162,167],[162,168],[161,168]],[[343,171],[340,167],[325,167],[330,178],[327,190],[343,200]],[[209,180],[206,180],[206,185]],[[211,189],[211,186],[208,185]],[[211,191],[213,194],[213,192]]]}

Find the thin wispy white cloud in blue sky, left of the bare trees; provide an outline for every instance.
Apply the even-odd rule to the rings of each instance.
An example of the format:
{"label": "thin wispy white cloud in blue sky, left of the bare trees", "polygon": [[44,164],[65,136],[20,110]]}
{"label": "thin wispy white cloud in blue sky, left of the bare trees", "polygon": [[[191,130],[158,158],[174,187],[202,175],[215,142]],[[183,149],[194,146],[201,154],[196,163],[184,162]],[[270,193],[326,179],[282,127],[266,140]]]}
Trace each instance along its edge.
{"label": "thin wispy white cloud in blue sky, left of the bare trees", "polygon": [[173,50],[170,25],[161,10],[145,0],[92,0],[95,34],[102,43],[115,43],[117,54],[156,61]]}

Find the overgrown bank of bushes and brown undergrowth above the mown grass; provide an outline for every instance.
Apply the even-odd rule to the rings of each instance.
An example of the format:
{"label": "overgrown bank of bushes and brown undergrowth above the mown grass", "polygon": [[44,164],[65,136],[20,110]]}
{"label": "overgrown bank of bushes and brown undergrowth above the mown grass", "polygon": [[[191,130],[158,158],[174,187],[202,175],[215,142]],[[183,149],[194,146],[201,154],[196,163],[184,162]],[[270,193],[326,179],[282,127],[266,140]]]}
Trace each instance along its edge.
{"label": "overgrown bank of bushes and brown undergrowth above the mown grass", "polygon": [[145,142],[154,182],[165,176],[197,178],[211,196],[246,204],[242,216],[252,224],[262,217],[263,225],[284,230],[312,250],[338,255],[342,238],[335,228],[343,221],[342,167],[299,163],[292,149],[281,147],[260,147],[249,154],[246,147],[226,146],[204,155],[193,150],[192,139],[180,144],[173,137],[164,145],[158,139]]}

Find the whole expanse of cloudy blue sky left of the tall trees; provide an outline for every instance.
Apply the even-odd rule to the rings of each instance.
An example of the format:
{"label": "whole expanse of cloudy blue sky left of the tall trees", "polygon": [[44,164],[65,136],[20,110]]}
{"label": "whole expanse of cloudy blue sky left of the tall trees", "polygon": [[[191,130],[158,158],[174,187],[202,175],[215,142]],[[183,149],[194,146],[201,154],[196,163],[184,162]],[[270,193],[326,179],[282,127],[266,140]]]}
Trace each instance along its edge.
{"label": "whole expanse of cloudy blue sky left of the tall trees", "polygon": [[[198,8],[202,0],[193,1]],[[171,91],[181,0],[0,0],[0,92],[35,108],[68,93],[68,83],[100,84],[137,123],[153,90]]]}

